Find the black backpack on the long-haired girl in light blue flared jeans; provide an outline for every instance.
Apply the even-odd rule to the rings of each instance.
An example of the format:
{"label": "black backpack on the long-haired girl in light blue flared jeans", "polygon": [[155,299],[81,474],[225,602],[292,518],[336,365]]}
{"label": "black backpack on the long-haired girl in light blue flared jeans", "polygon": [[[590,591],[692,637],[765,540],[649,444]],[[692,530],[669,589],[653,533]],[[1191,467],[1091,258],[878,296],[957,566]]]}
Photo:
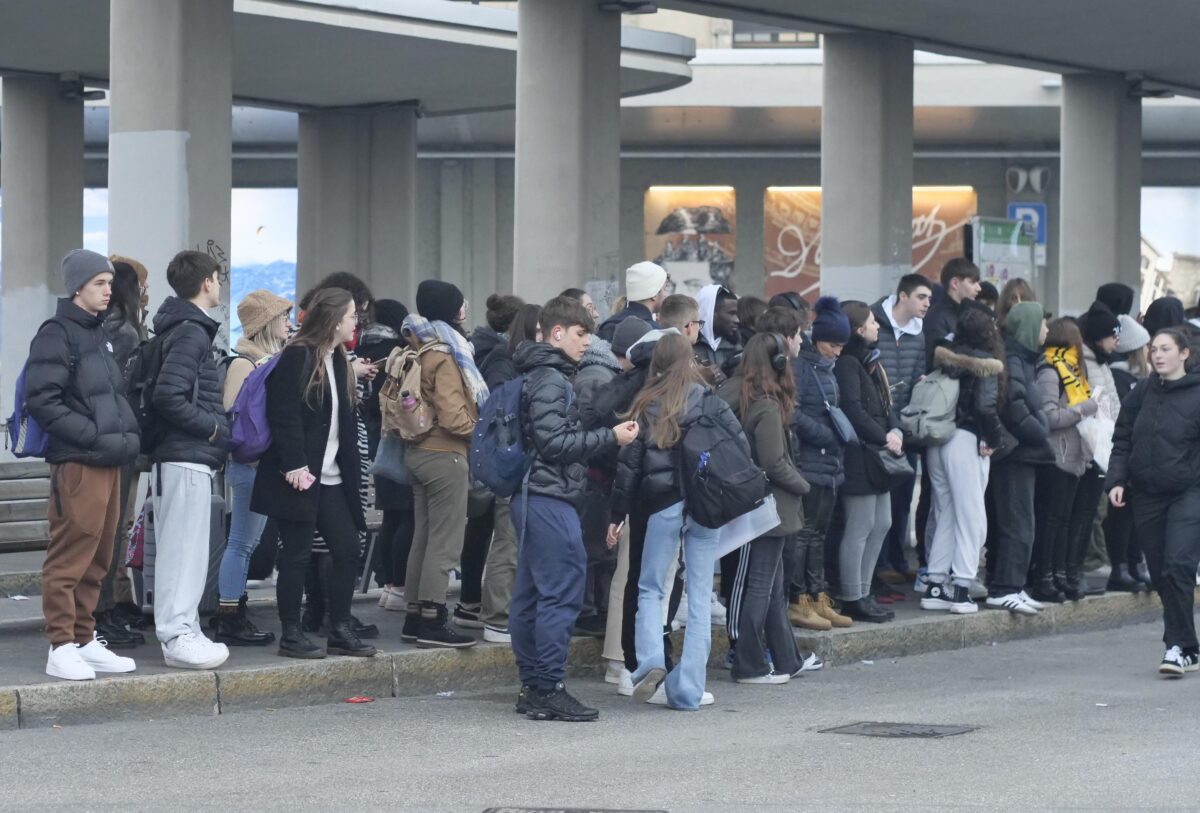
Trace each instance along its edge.
{"label": "black backpack on the long-haired girl in light blue flared jeans", "polygon": [[767,498],[767,475],[754,462],[750,442],[721,420],[724,401],[706,393],[701,415],[679,444],[688,516],[704,528],[720,528],[749,513]]}

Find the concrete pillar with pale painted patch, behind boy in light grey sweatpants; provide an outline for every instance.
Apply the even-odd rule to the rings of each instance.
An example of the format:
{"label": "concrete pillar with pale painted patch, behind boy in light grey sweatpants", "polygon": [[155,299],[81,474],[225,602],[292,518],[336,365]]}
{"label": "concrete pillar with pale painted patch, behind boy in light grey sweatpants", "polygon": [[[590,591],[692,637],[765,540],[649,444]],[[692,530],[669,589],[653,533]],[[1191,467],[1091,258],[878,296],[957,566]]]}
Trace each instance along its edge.
{"label": "concrete pillar with pale painted patch, behind boy in light grey sweatpants", "polygon": [[229,269],[233,0],[112,0],[109,66],[108,246],[145,264],[152,312],[175,253]]}

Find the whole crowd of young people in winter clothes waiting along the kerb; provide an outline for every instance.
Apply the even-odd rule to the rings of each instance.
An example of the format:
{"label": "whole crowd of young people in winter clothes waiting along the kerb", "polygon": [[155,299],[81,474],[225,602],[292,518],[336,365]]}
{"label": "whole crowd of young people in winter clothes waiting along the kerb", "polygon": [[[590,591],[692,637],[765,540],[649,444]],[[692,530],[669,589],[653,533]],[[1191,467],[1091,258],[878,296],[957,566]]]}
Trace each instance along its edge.
{"label": "whole crowd of young people in winter clothes waiting along the kerb", "polygon": [[[534,719],[598,717],[564,685],[575,634],[604,639],[620,694],[695,710],[714,703],[713,624],[727,627],[734,681],[780,685],[822,667],[794,627],[887,624],[908,585],[923,610],[1016,615],[1153,589],[1159,672],[1200,666],[1200,331],[1178,300],[1139,321],[1134,291],[1111,283],[1082,315],[1051,318],[1026,281],[997,291],[961,258],[874,303],[764,302],[719,284],[692,299],[637,263],[600,324],[592,297],[568,289],[544,305],[492,295],[468,332],[450,283],[421,282],[410,312],[336,273],[305,294],[298,326],[292,302],[248,294],[230,355],[214,351],[222,270],[204,253],[170,261],[174,296],[152,331],[136,261],[74,251],[62,277],[23,378],[49,438],[49,675],[136,668],[114,650],[144,643],[125,568],[139,472],[154,632],[172,667],[276,642],[246,610],[266,538],[278,654],[374,655],[378,628],[352,614],[372,507],[370,564],[402,639],[510,643],[516,711]],[[514,386],[527,468],[502,494],[473,477],[472,444]],[[247,459],[230,416],[254,395],[270,442]],[[774,512],[721,556],[695,486],[698,436],[719,439],[700,469],[709,452],[744,456]],[[224,492],[227,535],[211,511]],[[206,634],[214,535],[224,553]]]}

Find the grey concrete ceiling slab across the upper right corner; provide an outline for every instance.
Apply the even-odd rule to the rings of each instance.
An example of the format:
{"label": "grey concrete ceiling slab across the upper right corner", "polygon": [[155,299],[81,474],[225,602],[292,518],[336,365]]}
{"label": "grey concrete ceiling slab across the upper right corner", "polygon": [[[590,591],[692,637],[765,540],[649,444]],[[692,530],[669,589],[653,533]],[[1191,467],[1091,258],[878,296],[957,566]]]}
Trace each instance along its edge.
{"label": "grey concrete ceiling slab across the upper right corner", "polygon": [[1195,0],[660,0],[804,31],[877,31],[917,47],[1060,73],[1142,74],[1200,96]]}

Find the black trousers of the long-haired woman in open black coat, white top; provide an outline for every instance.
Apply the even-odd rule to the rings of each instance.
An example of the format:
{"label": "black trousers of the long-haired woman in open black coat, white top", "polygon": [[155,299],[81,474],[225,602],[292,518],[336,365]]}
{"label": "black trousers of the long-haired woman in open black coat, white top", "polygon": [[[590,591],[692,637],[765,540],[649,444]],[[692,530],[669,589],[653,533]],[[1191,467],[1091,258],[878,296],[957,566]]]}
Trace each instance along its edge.
{"label": "black trousers of the long-haired woman in open black coat, white top", "polygon": [[325,596],[330,620],[340,624],[350,618],[350,600],[354,597],[354,582],[359,566],[359,530],[354,524],[350,506],[347,505],[346,490],[341,486],[313,488],[320,488],[317,522],[277,520],[283,549],[280,552],[276,595],[280,603],[280,621],[283,624],[300,622],[300,602],[316,531],[320,531],[332,556],[329,594]]}

